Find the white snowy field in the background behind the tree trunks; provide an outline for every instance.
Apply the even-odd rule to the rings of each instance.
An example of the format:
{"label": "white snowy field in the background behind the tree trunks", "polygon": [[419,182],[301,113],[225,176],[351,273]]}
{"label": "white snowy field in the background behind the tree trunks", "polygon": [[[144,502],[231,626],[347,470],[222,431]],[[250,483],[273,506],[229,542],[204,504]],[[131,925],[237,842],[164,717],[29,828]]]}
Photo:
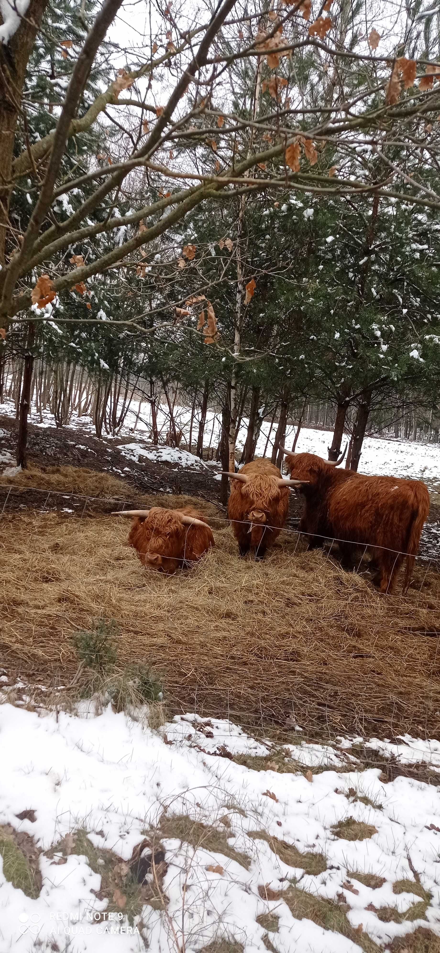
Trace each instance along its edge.
{"label": "white snowy field in the background behind the tree trunks", "polygon": [[[15,408],[9,401],[0,406],[0,413],[8,416],[15,416]],[[126,417],[125,426],[122,428],[119,438],[130,437],[130,442],[123,448],[125,456],[130,460],[141,461],[142,456],[159,461],[167,460],[175,463],[176,467],[185,466],[187,468],[203,469],[204,464],[198,457],[187,454],[185,451],[175,451],[168,447],[152,448],[148,446],[151,432],[150,404],[145,402],[141,405],[137,419],[136,430],[133,431],[137,416],[137,408],[129,411]],[[181,429],[184,438],[190,435],[190,411],[187,408],[174,408],[174,416],[177,429]],[[30,423],[42,427],[53,427],[53,416],[49,412],[43,415],[43,422],[40,423],[39,416],[32,407],[30,413]],[[169,413],[166,407],[161,407],[157,413],[157,424],[160,432],[160,439],[165,442],[169,429]],[[208,412],[205,427],[205,446],[216,447],[220,436],[220,417],[212,411]],[[248,419],[244,418],[240,433],[237,438],[237,448],[243,448],[248,427]],[[73,415],[70,420],[69,430],[81,430],[83,433],[94,435],[94,427],[90,417],[80,417]],[[194,419],[192,428],[192,441],[197,436],[198,420]],[[273,426],[270,433],[270,423],[264,422],[259,436],[256,456],[263,456],[270,436],[268,450],[270,451],[275,436],[276,427]],[[291,447],[295,428],[288,427],[286,435],[286,446]],[[346,437],[345,439],[348,439]],[[312,430],[302,428],[296,450],[298,453],[318,454],[328,458],[328,447],[331,442],[331,433],[323,430]],[[345,445],[345,444],[344,444]],[[414,443],[410,440],[380,439],[378,437],[366,437],[362,449],[362,456],[359,464],[359,472],[365,474],[380,474],[389,476],[407,476],[413,479],[425,480],[430,489],[440,489],[440,444],[433,443]]]}

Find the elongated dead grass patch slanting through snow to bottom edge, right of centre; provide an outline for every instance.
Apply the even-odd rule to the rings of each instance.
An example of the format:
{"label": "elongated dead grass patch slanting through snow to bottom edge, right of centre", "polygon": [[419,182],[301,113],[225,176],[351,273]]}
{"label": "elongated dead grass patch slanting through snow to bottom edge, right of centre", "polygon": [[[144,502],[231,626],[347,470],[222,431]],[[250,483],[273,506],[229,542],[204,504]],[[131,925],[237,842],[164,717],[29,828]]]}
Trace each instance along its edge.
{"label": "elongated dead grass patch slanting through snow to bottom edge, right of centre", "polygon": [[370,939],[367,933],[351,926],[347,917],[349,907],[346,903],[323,900],[293,885],[284,890],[282,896],[295,920],[312,920],[324,930],[341,933],[353,943],[357,943],[364,953],[379,953],[379,946]]}

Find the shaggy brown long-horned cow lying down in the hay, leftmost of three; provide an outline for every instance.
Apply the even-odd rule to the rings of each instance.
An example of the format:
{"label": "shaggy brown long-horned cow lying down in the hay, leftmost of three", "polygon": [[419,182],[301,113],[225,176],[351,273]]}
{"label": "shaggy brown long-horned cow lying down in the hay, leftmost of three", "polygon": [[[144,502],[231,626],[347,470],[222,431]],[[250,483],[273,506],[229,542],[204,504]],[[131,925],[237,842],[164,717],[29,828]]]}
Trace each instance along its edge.
{"label": "shaggy brown long-horned cow lying down in the hay, leftmost of three", "polygon": [[127,510],[121,517],[134,517],[130,529],[132,546],[142,564],[170,576],[186,569],[214,546],[210,526],[203,516],[186,506],[182,510]]}

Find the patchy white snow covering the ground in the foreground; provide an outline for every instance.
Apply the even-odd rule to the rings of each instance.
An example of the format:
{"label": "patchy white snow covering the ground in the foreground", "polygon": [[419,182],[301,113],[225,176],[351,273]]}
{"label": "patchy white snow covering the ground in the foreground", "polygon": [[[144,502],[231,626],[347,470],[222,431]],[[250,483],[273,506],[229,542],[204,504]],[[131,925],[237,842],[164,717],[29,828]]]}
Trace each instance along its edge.
{"label": "patchy white snow covering the ground in the foreground", "polygon": [[[0,737],[0,824],[34,838],[42,875],[41,892],[30,899],[6,880],[0,862],[2,953],[12,948],[30,953],[35,941],[38,948],[62,953],[147,948],[150,953],[184,948],[194,953],[221,937],[242,943],[245,953],[265,953],[267,928],[257,917],[268,912],[279,918],[277,932],[270,934],[279,953],[360,953],[355,934],[349,939],[311,919],[295,919],[289,906],[295,883],[312,897],[347,904],[342,909],[348,909],[357,935],[368,932],[380,948],[420,925],[440,935],[440,790],[405,777],[383,783],[380,768],[358,770],[350,740],[334,748],[304,741],[290,745],[291,755],[306,768],[325,764],[312,775],[278,772],[270,760],[267,770],[252,770],[251,756],[273,752],[275,757],[270,741],[254,740],[226,720],[191,715],[154,732],[110,707],[97,716],[60,712],[55,717],[4,703]],[[403,749],[419,748],[440,764],[439,742],[405,742],[402,749],[389,746],[397,759]],[[230,760],[229,752],[247,754],[247,764]],[[33,811],[34,820],[19,821],[22,811]],[[85,855],[68,852],[51,860],[50,846],[82,827],[94,846],[128,862],[145,830],[155,828],[161,816],[169,825],[167,837],[161,837],[168,865],[165,909],[147,904],[131,923],[124,913],[93,922],[107,906],[96,897],[99,873]],[[211,825],[218,841],[207,845],[202,836],[190,846],[190,838],[173,837],[172,819],[179,816],[199,822],[202,832],[200,823]],[[343,830],[334,831],[334,824],[349,818],[371,825],[363,829],[370,836],[353,841]],[[255,838],[255,832],[266,840]],[[268,837],[274,839],[273,850]],[[327,869],[306,874],[301,866],[308,866],[306,859],[281,860],[279,841],[308,853],[309,862],[310,854],[325,855],[321,869]],[[356,880],[356,873],[382,880],[373,889]],[[394,892],[398,881],[404,883]],[[265,889],[276,899],[266,899]],[[391,907],[402,919],[399,913],[405,915],[415,903],[414,921],[409,915],[402,923],[387,923],[377,915]]]}

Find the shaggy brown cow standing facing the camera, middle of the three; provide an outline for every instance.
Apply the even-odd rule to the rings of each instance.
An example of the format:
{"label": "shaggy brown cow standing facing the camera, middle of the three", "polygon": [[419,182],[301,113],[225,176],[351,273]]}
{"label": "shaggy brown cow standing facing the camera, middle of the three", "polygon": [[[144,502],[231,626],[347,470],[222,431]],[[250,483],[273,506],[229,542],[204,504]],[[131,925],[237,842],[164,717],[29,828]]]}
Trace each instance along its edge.
{"label": "shaggy brown cow standing facing the camera, middle of the three", "polygon": [[240,556],[246,556],[251,547],[255,559],[262,559],[286,522],[289,487],[298,486],[301,481],[283,479],[278,467],[266,459],[251,460],[238,474],[228,476],[235,481],[230,490],[228,516]]}

